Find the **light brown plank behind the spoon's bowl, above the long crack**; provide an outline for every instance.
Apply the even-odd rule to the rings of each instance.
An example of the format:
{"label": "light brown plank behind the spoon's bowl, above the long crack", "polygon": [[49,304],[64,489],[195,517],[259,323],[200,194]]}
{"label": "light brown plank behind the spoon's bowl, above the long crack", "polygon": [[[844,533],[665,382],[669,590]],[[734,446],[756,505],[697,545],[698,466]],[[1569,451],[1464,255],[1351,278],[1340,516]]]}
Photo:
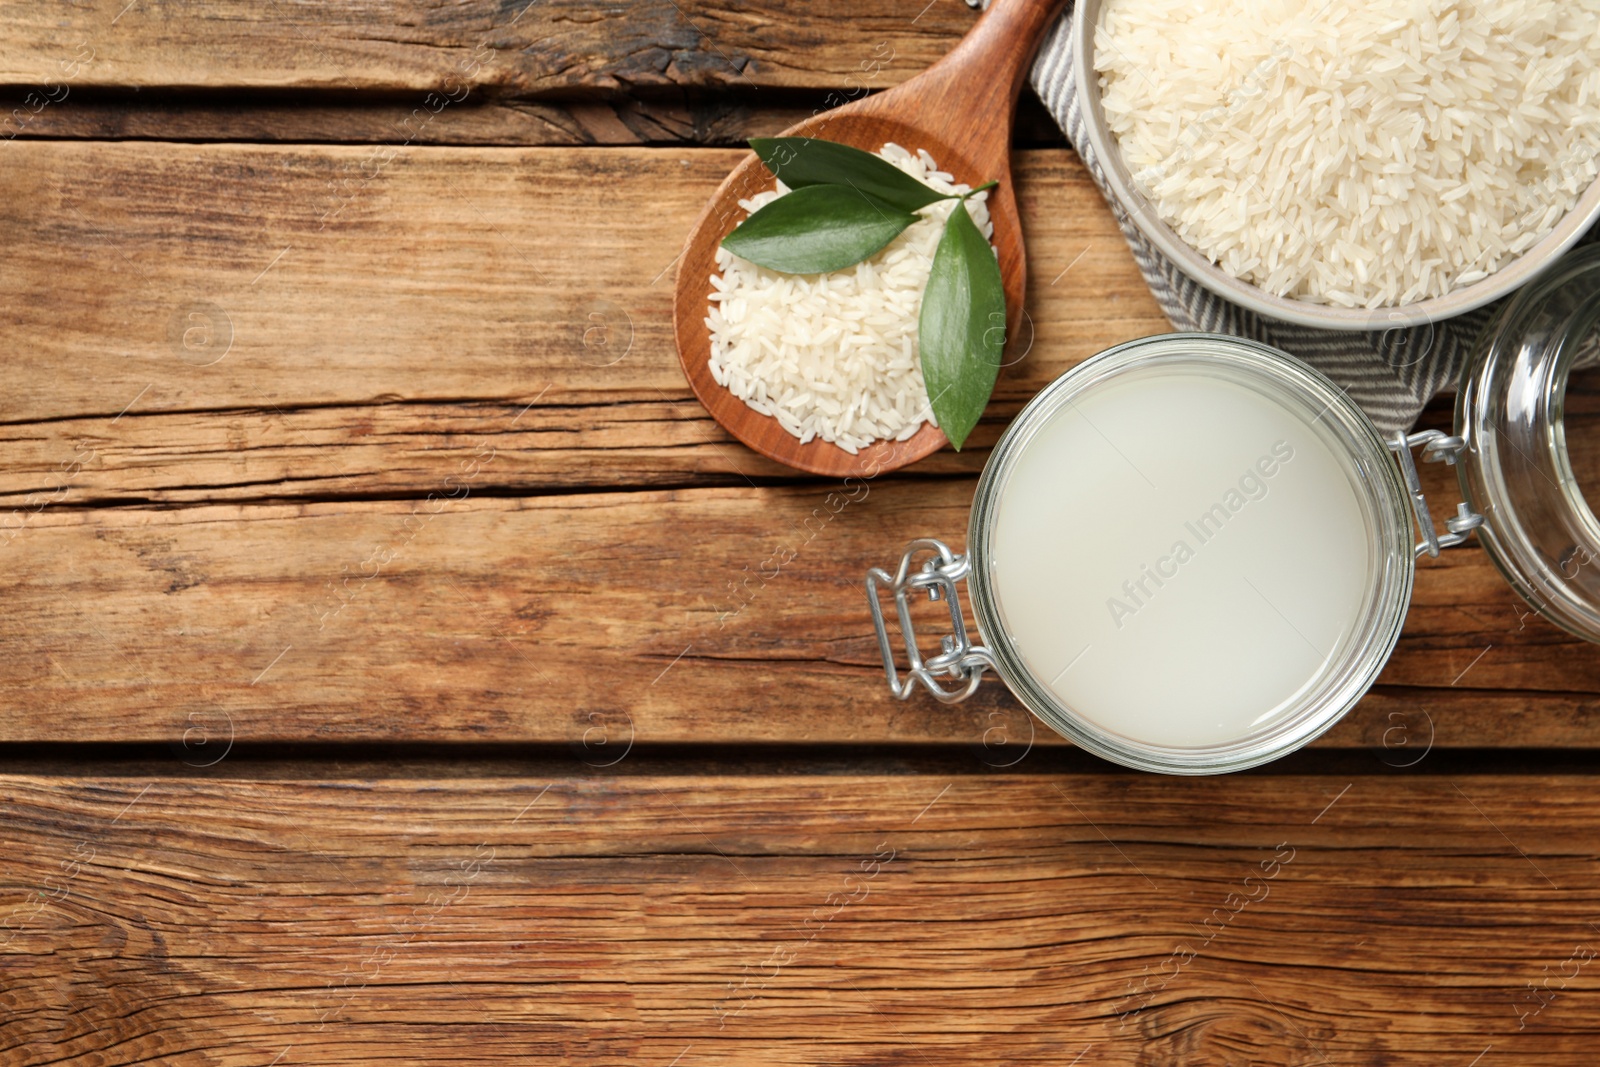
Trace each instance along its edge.
{"label": "light brown plank behind the spoon's bowl, above the long crack", "polygon": [[[16,357],[0,422],[104,416],[115,435],[152,413],[210,411],[211,432],[245,437],[307,406],[688,397],[672,347],[672,267],[741,158],[37,141],[5,150],[0,322]],[[1166,323],[1077,157],[1024,152],[1018,165],[1035,336],[1000,397],[1019,402]],[[56,462],[78,443],[58,440]]]}

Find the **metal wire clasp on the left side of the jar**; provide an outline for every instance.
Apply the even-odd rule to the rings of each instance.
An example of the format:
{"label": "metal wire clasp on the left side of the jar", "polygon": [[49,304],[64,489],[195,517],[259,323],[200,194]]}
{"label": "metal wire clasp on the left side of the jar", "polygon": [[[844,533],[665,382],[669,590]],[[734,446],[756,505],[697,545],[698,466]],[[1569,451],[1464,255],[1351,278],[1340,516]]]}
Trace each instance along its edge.
{"label": "metal wire clasp on the left side of the jar", "polygon": [[[918,553],[931,555],[915,571],[912,569]],[[982,645],[973,645],[966,635],[966,621],[962,617],[962,600],[957,595],[957,582],[971,573],[971,560],[955,555],[942,541],[920,537],[912,541],[901,557],[899,569],[890,574],[880,566],[867,571],[867,605],[872,609],[872,625],[878,633],[878,651],[883,653],[883,673],[888,675],[890,693],[899,699],[912,694],[920,681],[936,699],[944,704],[965,701],[978,689],[984,670],[994,667],[994,656]],[[894,593],[894,611],[899,614],[901,637],[906,640],[906,653],[910,657],[910,670],[901,680],[894,667],[894,649],[890,646],[888,624],[883,619],[883,605],[878,587],[885,585]],[[950,630],[939,640],[939,654],[922,657],[917,648],[917,629],[910,621],[910,595],[915,590],[926,590],[928,600],[944,600],[950,608]],[[946,688],[938,678],[962,680],[958,688]]]}

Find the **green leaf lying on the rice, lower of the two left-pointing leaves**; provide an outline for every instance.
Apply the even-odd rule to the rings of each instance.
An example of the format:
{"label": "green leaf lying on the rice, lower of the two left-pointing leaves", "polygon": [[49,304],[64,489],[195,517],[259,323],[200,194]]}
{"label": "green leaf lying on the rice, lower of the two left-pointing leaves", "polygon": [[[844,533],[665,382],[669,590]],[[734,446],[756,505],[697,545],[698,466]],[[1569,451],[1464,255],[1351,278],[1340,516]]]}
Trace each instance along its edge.
{"label": "green leaf lying on the rice, lower of the two left-pointing leaves", "polygon": [[808,186],[758,210],[722,246],[770,270],[826,274],[861,262],[915,221],[848,186]]}

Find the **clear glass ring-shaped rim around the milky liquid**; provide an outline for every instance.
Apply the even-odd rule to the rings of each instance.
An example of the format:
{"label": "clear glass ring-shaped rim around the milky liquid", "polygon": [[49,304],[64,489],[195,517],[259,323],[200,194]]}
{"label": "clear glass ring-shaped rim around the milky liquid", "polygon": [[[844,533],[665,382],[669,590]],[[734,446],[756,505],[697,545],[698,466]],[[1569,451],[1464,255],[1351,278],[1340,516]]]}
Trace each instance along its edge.
{"label": "clear glass ring-shaped rim around the milky liquid", "polygon": [[[1202,745],[1158,745],[1117,734],[1069,709],[1027,665],[1006,635],[1000,603],[989,579],[998,502],[1010,474],[1037,434],[1067,405],[1130,371],[1192,370],[1210,365],[1243,373],[1259,392],[1278,403],[1320,410],[1317,419],[1347,448],[1363,496],[1362,514],[1378,547],[1363,600],[1360,632],[1346,654],[1325,662],[1312,675],[1326,683],[1306,691],[1274,725],[1235,741]],[[1331,445],[1331,442],[1330,442]],[[1371,419],[1315,368],[1254,341],[1205,333],[1173,333],[1115,346],[1072,368],[1045,387],[1011,422],[984,466],[968,522],[968,576],[979,633],[995,669],[1019,701],[1048,726],[1096,755],[1115,763],[1166,774],[1216,774],[1259,766],[1302,747],[1331,728],[1371,686],[1389,659],[1411,598],[1414,552],[1411,501],[1390,456],[1390,446]],[[1330,661],[1331,662],[1331,661]]]}

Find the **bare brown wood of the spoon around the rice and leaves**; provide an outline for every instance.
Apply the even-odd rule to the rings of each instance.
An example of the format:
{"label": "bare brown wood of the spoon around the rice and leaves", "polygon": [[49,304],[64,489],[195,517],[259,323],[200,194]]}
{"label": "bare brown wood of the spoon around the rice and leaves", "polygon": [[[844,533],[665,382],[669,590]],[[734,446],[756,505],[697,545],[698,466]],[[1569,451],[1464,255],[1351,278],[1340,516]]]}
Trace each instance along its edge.
{"label": "bare brown wood of the spoon around the rice and leaves", "polygon": [[[784,131],[784,136],[840,141],[867,152],[894,141],[912,154],[926,149],[939,170],[954,174],[957,182],[998,181],[989,192],[989,218],[1005,283],[1008,350],[1022,320],[1027,282],[1022,226],[1011,192],[1011,117],[1040,37],[1062,6],[1066,0],[994,0],[950,54],[923,74]],[[712,379],[706,312],[717,246],[744,216],[739,200],[771,187],[773,176],[752,152],[712,195],[678,261],[674,331],[694,395],[741,442],[811,474],[870,478],[938,451],[944,446],[944,434],[928,424],[904,442],[874,442],[856,456],[816,438],[802,445],[778,419],[755,411]]]}

